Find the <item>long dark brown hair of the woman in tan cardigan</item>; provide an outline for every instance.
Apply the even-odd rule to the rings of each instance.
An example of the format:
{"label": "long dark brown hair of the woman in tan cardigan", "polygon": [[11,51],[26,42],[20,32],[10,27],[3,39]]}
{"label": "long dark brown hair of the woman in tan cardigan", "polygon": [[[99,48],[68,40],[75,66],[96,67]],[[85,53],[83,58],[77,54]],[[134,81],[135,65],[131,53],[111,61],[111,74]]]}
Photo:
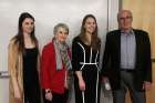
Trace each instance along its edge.
{"label": "long dark brown hair of the woman in tan cardigan", "polygon": [[[34,18],[28,13],[28,12],[23,12],[20,14],[20,18],[19,18],[19,24],[18,24],[18,33],[17,35],[13,38],[16,40],[14,43],[18,43],[18,50],[19,52],[21,52],[22,54],[24,53],[24,39],[23,39],[23,30],[22,30],[22,22],[27,19],[27,18],[30,18],[34,21]],[[35,34],[34,34],[34,29],[33,31],[31,32],[31,40],[32,42],[35,44],[35,47],[38,48],[38,40],[35,38]]]}

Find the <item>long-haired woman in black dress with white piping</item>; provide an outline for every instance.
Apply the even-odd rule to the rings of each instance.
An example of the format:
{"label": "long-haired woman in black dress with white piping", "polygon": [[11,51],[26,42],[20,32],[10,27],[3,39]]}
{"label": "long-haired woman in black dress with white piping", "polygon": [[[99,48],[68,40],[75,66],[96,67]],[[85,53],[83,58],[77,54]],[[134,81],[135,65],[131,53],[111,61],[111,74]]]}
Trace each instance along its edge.
{"label": "long-haired woman in black dress with white piping", "polygon": [[100,43],[96,19],[87,14],[72,44],[75,103],[100,103]]}

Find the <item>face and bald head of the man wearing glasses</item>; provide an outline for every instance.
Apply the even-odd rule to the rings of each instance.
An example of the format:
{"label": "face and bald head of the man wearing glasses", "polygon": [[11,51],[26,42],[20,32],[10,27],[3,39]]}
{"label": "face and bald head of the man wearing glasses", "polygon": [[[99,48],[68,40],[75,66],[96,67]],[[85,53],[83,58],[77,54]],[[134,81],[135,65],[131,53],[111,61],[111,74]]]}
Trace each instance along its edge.
{"label": "face and bald head of the man wearing glasses", "polygon": [[118,27],[121,30],[131,30],[133,17],[130,11],[121,11],[117,17]]}

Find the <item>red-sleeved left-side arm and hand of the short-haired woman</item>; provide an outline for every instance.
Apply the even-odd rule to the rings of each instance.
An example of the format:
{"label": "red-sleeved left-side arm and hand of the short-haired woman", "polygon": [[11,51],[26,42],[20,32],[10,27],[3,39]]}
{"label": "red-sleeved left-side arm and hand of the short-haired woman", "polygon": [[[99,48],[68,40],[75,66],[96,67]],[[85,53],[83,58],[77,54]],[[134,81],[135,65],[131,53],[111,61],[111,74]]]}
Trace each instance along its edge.
{"label": "red-sleeved left-side arm and hand of the short-haired woman", "polygon": [[41,56],[41,86],[45,91],[45,99],[52,101],[51,90],[51,63],[52,63],[52,51],[49,47],[44,47]]}

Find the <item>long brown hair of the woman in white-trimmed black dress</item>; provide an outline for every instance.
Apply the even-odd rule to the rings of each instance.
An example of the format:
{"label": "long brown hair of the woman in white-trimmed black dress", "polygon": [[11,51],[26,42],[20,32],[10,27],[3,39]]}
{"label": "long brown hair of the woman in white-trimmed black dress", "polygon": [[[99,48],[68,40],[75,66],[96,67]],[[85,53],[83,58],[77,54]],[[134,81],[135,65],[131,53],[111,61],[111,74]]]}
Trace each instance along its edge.
{"label": "long brown hair of the woman in white-trimmed black dress", "polygon": [[93,34],[92,34],[92,37],[91,37],[91,38],[92,38],[92,39],[91,39],[91,47],[93,48],[93,50],[97,50],[97,49],[100,49],[101,40],[100,40],[99,37],[97,37],[97,22],[96,22],[96,19],[95,19],[95,17],[94,17],[93,14],[86,14],[86,16],[84,17],[84,19],[83,19],[83,21],[82,21],[82,27],[81,27],[80,39],[81,39],[84,43],[87,41],[86,35],[85,35],[86,30],[85,30],[85,28],[84,28],[87,18],[93,18],[94,21],[95,21],[95,23],[96,23],[95,31],[93,32]]}

